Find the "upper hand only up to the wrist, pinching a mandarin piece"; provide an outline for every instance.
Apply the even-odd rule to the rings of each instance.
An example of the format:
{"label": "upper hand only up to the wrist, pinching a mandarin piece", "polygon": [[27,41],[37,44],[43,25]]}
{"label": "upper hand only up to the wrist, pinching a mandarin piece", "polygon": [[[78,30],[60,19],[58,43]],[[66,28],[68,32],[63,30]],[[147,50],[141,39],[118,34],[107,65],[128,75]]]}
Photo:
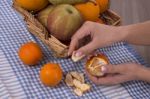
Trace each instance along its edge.
{"label": "upper hand only up to the wrist, pinching a mandarin piece", "polygon": [[88,35],[90,35],[92,41],[76,51],[78,56],[87,55],[99,47],[111,45],[114,42],[123,40],[125,37],[125,33],[123,33],[121,27],[87,21],[72,37],[68,54],[71,55],[79,45],[79,40]]}

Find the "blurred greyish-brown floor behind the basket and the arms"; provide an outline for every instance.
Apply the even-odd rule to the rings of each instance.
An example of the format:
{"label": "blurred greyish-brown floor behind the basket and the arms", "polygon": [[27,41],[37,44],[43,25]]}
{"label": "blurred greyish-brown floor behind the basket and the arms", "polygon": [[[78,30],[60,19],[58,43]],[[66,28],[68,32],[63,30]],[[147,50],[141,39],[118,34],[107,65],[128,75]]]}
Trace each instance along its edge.
{"label": "blurred greyish-brown floor behind the basket and the arms", "polygon": [[[122,25],[150,20],[150,0],[110,0],[111,9],[122,18]],[[133,45],[150,64],[150,46]]]}

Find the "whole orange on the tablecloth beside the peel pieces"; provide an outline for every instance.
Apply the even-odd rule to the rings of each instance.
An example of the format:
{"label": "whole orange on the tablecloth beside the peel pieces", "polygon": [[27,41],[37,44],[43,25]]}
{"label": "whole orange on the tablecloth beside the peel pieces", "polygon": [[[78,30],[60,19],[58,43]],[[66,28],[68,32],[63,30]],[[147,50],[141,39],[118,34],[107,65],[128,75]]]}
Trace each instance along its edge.
{"label": "whole orange on the tablecloth beside the peel pieces", "polygon": [[60,83],[63,73],[59,64],[47,63],[40,71],[40,79],[46,86],[56,86]]}

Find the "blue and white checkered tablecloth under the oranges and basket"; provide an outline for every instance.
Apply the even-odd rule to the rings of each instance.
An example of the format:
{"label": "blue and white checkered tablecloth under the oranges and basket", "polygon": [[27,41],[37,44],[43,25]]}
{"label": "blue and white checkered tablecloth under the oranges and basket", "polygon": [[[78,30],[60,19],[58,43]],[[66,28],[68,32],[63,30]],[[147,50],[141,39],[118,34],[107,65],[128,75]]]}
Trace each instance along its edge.
{"label": "blue and white checkered tablecloth under the oranges and basket", "polygon": [[[92,90],[82,97],[62,82],[55,88],[45,87],[39,79],[39,71],[47,62],[60,63],[64,73],[84,72],[84,62],[73,63],[70,59],[52,56],[39,39],[31,35],[21,16],[11,8],[10,0],[0,0],[0,99],[150,99],[150,85],[142,81],[131,81],[114,86],[96,86],[87,77]],[[37,42],[44,59],[36,67],[24,65],[18,58],[18,48],[25,42]],[[126,43],[116,43],[99,49],[112,64],[136,62],[146,65],[140,55]],[[135,71],[136,72],[136,71]]]}

